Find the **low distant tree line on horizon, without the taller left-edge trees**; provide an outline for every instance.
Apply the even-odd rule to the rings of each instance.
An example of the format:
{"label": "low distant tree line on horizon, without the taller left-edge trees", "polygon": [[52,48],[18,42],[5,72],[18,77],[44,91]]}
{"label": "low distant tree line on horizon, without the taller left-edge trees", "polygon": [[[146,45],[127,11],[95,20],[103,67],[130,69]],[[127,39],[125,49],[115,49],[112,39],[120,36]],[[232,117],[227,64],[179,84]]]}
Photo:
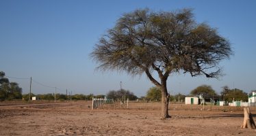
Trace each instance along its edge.
{"label": "low distant tree line on horizon, without the taller left-edge trees", "polygon": [[[178,93],[176,95],[170,95],[170,101],[185,101],[185,97],[191,97],[191,96],[199,96],[203,95],[206,101],[209,101],[209,99],[214,99],[214,101],[248,101],[248,94],[244,92],[243,90],[240,90],[238,88],[230,89],[228,86],[224,86],[222,88],[222,91],[220,92],[220,95],[212,88],[212,86],[209,85],[201,85],[193,90],[190,91],[189,95],[183,95],[181,93]],[[11,97],[11,95],[10,95]],[[54,100],[54,93],[44,94],[44,95],[34,95],[31,94],[31,97],[37,97],[40,100]],[[140,99],[141,101],[161,101],[161,90],[157,86],[153,86],[149,88],[149,90],[146,92],[146,96],[138,98],[136,95],[133,94],[133,92],[130,92],[129,90],[110,90],[107,92],[106,95],[83,95],[83,94],[75,94],[75,95],[67,95],[66,94],[56,94],[56,100],[64,101],[64,100],[87,100],[90,101],[92,98],[105,98],[107,99],[113,99],[114,101],[125,101],[127,98],[131,101],[135,101],[137,99]],[[23,98],[25,101],[28,101],[29,94],[21,95],[17,99]]]}

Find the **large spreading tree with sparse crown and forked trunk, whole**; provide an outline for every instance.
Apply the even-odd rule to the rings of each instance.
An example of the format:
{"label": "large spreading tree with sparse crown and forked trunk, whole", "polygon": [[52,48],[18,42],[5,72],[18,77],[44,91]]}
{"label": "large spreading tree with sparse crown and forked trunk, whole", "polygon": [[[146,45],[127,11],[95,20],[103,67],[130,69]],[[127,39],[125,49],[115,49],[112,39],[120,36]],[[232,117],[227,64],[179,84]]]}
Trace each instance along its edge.
{"label": "large spreading tree with sparse crown and forked trunk, whole", "polygon": [[[218,63],[229,58],[229,41],[216,29],[197,23],[191,10],[153,12],[149,9],[123,14],[115,27],[99,39],[91,56],[101,70],[146,73],[162,92],[162,118],[169,118],[166,80],[173,73],[217,78]],[[158,74],[158,80],[153,73]]]}

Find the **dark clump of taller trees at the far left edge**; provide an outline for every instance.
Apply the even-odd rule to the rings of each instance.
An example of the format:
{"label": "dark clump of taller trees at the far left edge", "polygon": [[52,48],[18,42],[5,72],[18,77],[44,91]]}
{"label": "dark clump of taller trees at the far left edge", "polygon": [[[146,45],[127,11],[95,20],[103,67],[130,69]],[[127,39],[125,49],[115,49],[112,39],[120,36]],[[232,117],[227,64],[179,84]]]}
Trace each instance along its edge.
{"label": "dark clump of taller trees at the far left edge", "polygon": [[5,78],[5,73],[0,71],[0,101],[22,99],[22,88],[16,82]]}

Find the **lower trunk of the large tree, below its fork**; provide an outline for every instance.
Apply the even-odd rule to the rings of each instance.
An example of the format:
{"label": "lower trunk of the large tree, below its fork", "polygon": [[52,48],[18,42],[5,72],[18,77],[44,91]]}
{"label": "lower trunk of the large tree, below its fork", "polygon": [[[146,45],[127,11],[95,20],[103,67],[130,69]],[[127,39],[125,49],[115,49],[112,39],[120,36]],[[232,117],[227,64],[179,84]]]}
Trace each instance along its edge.
{"label": "lower trunk of the large tree, below its fork", "polygon": [[162,92],[161,119],[164,120],[166,118],[171,118],[171,116],[168,114],[168,105],[169,105],[170,95],[167,92],[166,84],[162,84],[161,92]]}

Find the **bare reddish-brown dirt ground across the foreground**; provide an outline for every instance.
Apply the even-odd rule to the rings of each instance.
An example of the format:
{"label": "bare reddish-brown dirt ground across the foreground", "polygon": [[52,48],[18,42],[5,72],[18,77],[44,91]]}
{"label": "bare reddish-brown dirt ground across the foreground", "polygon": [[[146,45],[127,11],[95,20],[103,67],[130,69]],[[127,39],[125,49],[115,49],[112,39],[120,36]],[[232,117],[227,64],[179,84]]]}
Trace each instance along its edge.
{"label": "bare reddish-brown dirt ground across the foreground", "polygon": [[256,135],[254,129],[240,129],[242,111],[171,108],[172,118],[160,120],[159,109],[92,110],[88,105],[0,103],[0,135]]}

